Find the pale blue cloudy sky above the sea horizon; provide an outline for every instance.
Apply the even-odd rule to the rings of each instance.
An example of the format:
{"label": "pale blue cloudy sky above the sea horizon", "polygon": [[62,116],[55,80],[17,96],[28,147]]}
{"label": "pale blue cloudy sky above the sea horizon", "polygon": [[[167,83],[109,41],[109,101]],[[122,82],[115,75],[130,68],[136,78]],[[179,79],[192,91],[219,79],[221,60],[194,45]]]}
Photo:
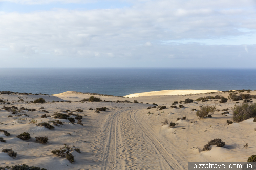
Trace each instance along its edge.
{"label": "pale blue cloudy sky above the sea horizon", "polygon": [[0,0],[0,63],[256,68],[256,0]]}

